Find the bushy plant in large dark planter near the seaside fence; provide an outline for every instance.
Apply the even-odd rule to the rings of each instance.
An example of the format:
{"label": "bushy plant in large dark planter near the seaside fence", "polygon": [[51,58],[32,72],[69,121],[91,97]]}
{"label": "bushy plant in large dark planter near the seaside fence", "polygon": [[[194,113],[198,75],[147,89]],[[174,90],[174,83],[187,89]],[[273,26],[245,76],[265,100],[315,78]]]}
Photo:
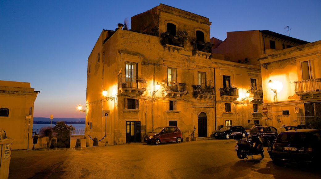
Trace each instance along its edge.
{"label": "bushy plant in large dark planter near the seaside fence", "polygon": [[59,121],[52,131],[56,132],[57,148],[70,148],[70,136],[71,132],[74,132],[75,128],[70,124],[68,126],[65,121]]}

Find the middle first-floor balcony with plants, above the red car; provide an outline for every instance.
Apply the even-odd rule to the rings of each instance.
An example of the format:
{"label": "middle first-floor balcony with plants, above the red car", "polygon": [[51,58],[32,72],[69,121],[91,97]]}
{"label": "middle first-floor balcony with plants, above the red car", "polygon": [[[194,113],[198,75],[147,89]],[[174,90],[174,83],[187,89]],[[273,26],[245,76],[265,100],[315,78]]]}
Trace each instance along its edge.
{"label": "middle first-floor balcony with plants, above the red car", "polygon": [[175,95],[187,95],[189,92],[186,90],[186,83],[165,83],[163,85],[163,94],[174,97]]}

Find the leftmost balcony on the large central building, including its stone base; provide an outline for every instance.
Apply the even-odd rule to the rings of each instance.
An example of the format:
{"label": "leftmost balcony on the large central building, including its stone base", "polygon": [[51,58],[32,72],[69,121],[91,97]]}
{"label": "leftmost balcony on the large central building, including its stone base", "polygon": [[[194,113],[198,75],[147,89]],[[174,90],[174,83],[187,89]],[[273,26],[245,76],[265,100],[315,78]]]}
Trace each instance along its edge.
{"label": "leftmost balcony on the large central building, including its stone base", "polygon": [[118,89],[121,93],[124,92],[135,92],[138,94],[143,94],[146,91],[146,80],[136,79],[136,78],[118,78]]}

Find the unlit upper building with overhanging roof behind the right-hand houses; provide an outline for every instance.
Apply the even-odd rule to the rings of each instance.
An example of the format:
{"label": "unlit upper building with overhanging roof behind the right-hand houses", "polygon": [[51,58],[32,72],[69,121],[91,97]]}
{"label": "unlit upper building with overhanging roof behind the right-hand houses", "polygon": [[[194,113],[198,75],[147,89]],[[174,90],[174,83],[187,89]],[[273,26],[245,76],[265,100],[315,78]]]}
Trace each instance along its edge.
{"label": "unlit upper building with overhanging roof behind the right-hand houses", "polygon": [[213,53],[223,54],[224,60],[247,65],[260,64],[257,58],[261,55],[309,43],[269,30],[227,32],[226,37],[222,42],[211,38],[219,43]]}

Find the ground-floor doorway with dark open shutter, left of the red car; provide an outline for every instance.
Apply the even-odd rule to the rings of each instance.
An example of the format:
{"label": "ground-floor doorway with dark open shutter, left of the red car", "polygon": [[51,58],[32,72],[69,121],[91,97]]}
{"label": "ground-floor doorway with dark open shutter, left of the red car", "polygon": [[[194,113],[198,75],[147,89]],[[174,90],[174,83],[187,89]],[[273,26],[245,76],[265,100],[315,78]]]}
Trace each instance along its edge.
{"label": "ground-floor doorway with dark open shutter, left of the red car", "polygon": [[141,142],[140,121],[126,121],[126,143]]}

